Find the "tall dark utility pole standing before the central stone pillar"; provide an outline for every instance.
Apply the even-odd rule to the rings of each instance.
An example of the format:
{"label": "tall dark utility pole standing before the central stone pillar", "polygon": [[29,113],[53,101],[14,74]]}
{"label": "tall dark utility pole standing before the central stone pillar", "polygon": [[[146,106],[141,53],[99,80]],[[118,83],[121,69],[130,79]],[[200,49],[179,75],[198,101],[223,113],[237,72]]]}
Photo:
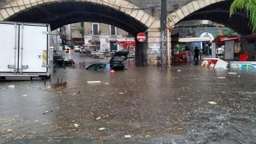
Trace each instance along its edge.
{"label": "tall dark utility pole standing before the central stone pillar", "polygon": [[166,18],[167,1],[161,0],[161,70],[166,70]]}

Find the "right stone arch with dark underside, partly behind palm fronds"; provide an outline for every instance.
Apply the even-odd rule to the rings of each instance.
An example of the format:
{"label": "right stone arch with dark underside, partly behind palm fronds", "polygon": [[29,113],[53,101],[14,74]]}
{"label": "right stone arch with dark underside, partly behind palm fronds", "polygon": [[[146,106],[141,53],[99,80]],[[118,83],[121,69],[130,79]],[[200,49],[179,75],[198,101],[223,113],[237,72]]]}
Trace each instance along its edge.
{"label": "right stone arch with dark underside, partly behind palm fronds", "polygon": [[250,19],[244,11],[229,16],[229,8],[233,0],[194,0],[181,6],[167,17],[169,27],[186,20],[211,20],[225,25],[240,35],[252,34]]}

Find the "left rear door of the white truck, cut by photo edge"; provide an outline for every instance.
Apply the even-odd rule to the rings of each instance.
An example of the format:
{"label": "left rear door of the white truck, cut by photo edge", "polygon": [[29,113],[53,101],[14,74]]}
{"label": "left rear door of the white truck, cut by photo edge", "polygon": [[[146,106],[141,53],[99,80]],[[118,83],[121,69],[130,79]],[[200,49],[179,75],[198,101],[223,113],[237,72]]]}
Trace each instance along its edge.
{"label": "left rear door of the white truck, cut by photo edge", "polygon": [[18,68],[18,26],[0,23],[0,72],[15,72]]}

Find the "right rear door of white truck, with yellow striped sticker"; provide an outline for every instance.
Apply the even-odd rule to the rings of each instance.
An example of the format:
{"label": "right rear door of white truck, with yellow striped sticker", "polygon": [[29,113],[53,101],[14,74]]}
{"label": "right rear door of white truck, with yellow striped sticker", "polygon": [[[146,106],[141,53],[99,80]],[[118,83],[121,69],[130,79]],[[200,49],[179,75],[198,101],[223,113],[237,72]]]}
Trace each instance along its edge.
{"label": "right rear door of white truck, with yellow striped sticker", "polygon": [[48,27],[46,25],[20,26],[19,72],[46,73],[48,50]]}

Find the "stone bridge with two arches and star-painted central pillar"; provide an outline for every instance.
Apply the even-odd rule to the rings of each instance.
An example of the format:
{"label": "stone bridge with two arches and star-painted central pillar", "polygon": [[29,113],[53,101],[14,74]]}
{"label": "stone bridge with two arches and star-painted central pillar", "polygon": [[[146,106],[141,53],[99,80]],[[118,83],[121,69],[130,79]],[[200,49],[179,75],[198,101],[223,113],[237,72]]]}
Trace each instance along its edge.
{"label": "stone bridge with two arches and star-painted central pillar", "polygon": [[[241,35],[251,34],[244,12],[236,12],[229,18],[232,1],[167,0],[167,27],[202,19],[223,24]],[[49,23],[52,30],[70,23],[93,21],[122,28],[133,36],[145,32],[147,41],[137,42],[136,61],[157,65],[160,5],[161,0],[0,0],[0,20]]]}

